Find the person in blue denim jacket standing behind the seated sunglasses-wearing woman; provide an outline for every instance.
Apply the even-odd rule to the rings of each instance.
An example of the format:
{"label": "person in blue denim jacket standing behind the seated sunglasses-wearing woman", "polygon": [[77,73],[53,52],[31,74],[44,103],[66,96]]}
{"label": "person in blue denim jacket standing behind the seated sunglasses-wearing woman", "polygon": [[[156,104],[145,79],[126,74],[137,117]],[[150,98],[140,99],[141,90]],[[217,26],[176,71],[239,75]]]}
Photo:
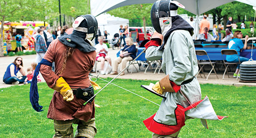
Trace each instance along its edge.
{"label": "person in blue denim jacket standing behind the seated sunglasses-wearing woman", "polygon": [[42,29],[38,29],[37,32],[38,32],[38,35],[36,37],[35,50],[37,52],[36,63],[39,63],[44,57],[47,48],[46,48],[45,40],[42,37],[44,31]]}

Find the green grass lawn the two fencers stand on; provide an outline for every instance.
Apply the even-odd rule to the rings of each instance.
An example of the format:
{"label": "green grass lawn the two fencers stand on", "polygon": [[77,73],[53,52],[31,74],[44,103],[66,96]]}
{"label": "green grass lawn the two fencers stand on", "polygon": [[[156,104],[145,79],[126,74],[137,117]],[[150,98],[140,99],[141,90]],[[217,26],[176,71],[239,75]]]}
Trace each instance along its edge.
{"label": "green grass lawn the two fencers stand on", "polygon": [[[107,78],[110,81],[112,78]],[[150,80],[116,79],[114,84],[135,92],[155,103],[161,98],[140,87]],[[98,80],[100,86],[107,83]],[[0,138],[52,138],[53,120],[47,111],[53,90],[39,83],[39,104],[45,111],[34,111],[29,102],[30,85],[0,88]],[[180,138],[256,138],[256,88],[202,84],[202,98],[208,96],[217,115],[228,116],[222,121],[207,121],[205,129],[200,119],[189,119],[183,126]],[[158,110],[150,103],[112,84],[100,92],[95,103],[96,138],[151,138],[143,120]],[[75,128],[77,125],[73,125]],[[74,129],[75,130],[75,129]]]}

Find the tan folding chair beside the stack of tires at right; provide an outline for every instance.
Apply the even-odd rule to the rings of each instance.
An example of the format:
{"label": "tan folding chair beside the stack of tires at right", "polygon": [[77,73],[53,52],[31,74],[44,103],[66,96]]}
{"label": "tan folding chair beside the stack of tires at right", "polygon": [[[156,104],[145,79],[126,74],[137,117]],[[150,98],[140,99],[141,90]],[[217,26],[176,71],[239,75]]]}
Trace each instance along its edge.
{"label": "tan folding chair beside the stack of tires at right", "polygon": [[[223,58],[223,55],[234,55],[234,54],[237,55],[239,62],[235,62],[235,63],[227,62],[227,61],[225,62],[225,60],[224,60],[224,58]],[[230,72],[230,73],[228,72],[228,67],[229,67],[229,65],[241,64],[241,62],[240,62],[240,59],[239,59],[239,56],[238,56],[236,50],[221,50],[221,55],[222,55],[222,59],[223,59],[223,64],[225,65],[225,71],[224,71],[223,77],[222,77],[222,79],[224,80],[224,79],[225,79],[224,76],[225,76],[225,73],[226,73],[226,72],[227,72],[227,74],[232,74],[231,72]],[[239,73],[240,73],[240,70],[238,71],[238,74],[239,74]],[[229,78],[229,76],[228,76],[228,78]],[[238,80],[238,75],[237,75],[237,77],[236,77],[236,80]]]}

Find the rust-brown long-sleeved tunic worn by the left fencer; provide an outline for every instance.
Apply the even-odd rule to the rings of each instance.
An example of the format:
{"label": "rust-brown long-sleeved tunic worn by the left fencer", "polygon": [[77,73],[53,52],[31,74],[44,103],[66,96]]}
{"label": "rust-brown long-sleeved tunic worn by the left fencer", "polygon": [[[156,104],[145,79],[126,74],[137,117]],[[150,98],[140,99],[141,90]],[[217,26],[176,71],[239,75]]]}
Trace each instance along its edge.
{"label": "rust-brown long-sleeved tunic worn by the left fencer", "polygon": [[[59,77],[63,77],[71,88],[88,88],[91,86],[89,72],[93,68],[96,52],[84,53],[75,49],[73,55],[66,61],[64,72],[60,76],[57,76],[56,74],[61,71],[63,64],[62,57],[65,52],[66,46],[58,39],[51,42],[44,58],[47,61],[55,62],[55,73],[52,71],[52,68],[47,65],[41,65],[40,68],[40,72],[48,86],[53,88]],[[85,100],[77,99],[76,96],[74,96],[72,101],[67,102],[63,100],[60,92],[55,91],[49,106],[47,118],[54,120],[70,120],[77,118],[88,121],[94,118],[94,100],[92,103],[87,103],[84,106],[83,103],[85,102]]]}

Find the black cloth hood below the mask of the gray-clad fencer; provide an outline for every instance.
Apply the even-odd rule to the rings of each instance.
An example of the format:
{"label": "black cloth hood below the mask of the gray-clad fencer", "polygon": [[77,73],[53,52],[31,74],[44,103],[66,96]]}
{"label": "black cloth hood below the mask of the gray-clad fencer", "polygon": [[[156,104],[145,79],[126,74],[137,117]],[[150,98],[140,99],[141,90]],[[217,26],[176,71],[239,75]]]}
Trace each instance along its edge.
{"label": "black cloth hood below the mask of the gray-clad fencer", "polygon": [[185,21],[183,18],[181,18],[179,15],[171,17],[171,29],[167,31],[167,33],[163,37],[163,44],[159,48],[159,50],[164,49],[165,42],[167,42],[169,36],[171,33],[175,30],[187,30],[189,31],[190,35],[192,36],[194,34],[194,28],[190,26],[187,21]]}

